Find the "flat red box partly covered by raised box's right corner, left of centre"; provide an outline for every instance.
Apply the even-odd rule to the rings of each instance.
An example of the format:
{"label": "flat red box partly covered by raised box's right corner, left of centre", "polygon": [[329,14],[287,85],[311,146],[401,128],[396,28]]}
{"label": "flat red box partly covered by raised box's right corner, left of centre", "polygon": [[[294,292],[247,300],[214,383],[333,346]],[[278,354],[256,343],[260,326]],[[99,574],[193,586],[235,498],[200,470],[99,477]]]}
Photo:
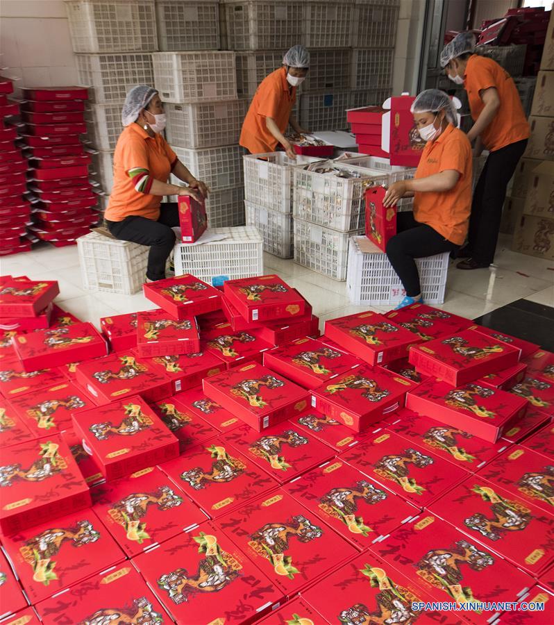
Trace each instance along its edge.
{"label": "flat red box partly covered by raised box's right corner, left of centre", "polygon": [[153,403],[151,408],[178,438],[181,453],[219,433],[218,429],[194,414],[179,395]]}

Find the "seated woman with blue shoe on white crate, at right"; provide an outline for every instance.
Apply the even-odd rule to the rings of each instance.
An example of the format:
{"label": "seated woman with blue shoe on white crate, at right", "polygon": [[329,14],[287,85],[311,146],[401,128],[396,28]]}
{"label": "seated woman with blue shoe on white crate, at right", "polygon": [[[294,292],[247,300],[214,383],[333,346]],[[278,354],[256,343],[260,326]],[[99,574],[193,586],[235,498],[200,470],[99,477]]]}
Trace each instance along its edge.
{"label": "seated woman with blue shoe on white crate, at right", "polygon": [[471,213],[471,145],[458,126],[458,116],[444,91],[428,89],[412,104],[414,122],[426,145],[413,180],[390,185],[385,206],[402,197],[414,198],[414,212],[398,213],[397,234],[387,256],[405,288],[397,308],[421,299],[415,258],[458,251],[464,243]]}

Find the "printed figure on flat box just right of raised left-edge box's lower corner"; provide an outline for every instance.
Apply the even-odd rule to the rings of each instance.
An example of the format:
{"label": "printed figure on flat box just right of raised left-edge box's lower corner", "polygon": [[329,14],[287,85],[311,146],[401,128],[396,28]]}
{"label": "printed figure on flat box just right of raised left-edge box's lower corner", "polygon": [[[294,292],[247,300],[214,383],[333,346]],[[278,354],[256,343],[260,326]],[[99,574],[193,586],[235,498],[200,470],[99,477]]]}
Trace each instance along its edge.
{"label": "printed figure on flat box just right of raised left-edge box's lower corner", "polygon": [[146,522],[141,519],[146,516],[150,506],[156,506],[158,510],[165,512],[181,506],[183,498],[179,497],[167,485],[160,486],[154,492],[133,492],[124,499],[116,501],[112,508],[108,510],[108,515],[116,523],[125,528],[128,540],[134,540],[142,544],[144,540],[150,538],[146,532]]}

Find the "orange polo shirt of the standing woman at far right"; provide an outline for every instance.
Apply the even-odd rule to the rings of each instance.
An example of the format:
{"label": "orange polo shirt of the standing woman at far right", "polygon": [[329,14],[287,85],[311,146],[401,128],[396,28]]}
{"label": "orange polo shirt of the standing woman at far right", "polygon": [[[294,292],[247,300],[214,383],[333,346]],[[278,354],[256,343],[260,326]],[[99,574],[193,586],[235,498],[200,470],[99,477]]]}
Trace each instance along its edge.
{"label": "orange polo shirt of the standing woman at far right", "polygon": [[529,124],[512,76],[492,58],[472,54],[467,60],[464,88],[474,122],[485,108],[480,92],[491,87],[498,91],[500,107],[492,122],[482,131],[481,139],[489,151],[495,151],[528,139]]}

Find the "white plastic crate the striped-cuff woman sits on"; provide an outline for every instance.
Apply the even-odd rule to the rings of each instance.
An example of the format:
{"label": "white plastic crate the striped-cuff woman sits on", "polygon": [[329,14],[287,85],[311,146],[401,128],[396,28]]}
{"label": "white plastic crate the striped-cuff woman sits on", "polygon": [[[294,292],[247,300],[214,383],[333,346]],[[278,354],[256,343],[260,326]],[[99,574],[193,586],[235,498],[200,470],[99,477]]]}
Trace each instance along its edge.
{"label": "white plastic crate the striped-cuff woman sits on", "polygon": [[91,232],[77,239],[83,288],[131,295],[146,280],[150,248]]}

